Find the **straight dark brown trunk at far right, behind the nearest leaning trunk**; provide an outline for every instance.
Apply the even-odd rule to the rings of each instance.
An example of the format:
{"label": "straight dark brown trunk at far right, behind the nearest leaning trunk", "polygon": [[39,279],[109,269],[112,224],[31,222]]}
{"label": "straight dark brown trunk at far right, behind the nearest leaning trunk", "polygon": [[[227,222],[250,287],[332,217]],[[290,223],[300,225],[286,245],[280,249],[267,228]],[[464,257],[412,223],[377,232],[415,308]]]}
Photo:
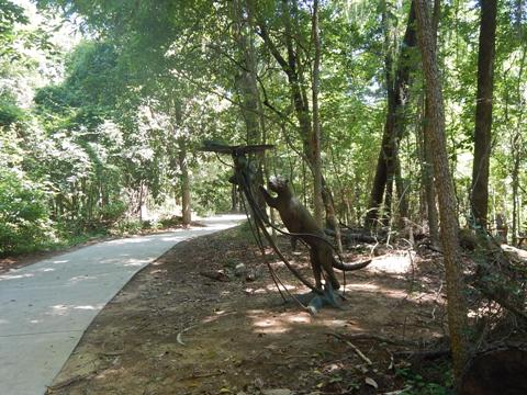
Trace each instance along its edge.
{"label": "straight dark brown trunk at far right, behind the nearest leaning trunk", "polygon": [[475,102],[474,162],[471,206],[474,226],[486,229],[489,211],[489,162],[491,158],[492,93],[497,0],[481,0],[478,94]]}

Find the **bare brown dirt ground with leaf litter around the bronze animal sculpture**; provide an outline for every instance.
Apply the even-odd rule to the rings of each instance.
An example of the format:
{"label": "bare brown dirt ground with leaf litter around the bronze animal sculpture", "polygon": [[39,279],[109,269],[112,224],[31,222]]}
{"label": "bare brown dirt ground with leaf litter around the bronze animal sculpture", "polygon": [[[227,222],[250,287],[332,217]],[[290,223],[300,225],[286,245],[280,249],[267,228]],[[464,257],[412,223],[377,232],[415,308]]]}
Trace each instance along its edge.
{"label": "bare brown dirt ground with leaf litter around the bronze animal sculpture", "polygon": [[[244,229],[181,242],[137,273],[91,324],[48,393],[382,394],[407,385],[399,374],[407,362],[396,357],[404,343],[444,336],[444,287],[433,260],[384,248],[367,269],[348,273],[341,308],[311,316],[283,304]],[[287,239],[279,246],[311,276],[305,251],[292,252]],[[276,257],[270,262],[291,293],[306,292]],[[239,263],[248,275],[235,275]],[[200,274],[218,270],[226,281]]]}

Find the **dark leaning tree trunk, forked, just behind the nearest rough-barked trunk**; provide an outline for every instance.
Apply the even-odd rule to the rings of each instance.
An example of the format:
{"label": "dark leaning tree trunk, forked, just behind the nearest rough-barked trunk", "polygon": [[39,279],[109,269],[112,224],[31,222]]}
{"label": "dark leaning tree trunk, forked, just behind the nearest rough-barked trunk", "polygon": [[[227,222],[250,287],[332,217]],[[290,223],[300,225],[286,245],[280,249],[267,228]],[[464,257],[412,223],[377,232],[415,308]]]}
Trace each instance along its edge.
{"label": "dark leaning tree trunk, forked, just behind the nearest rough-barked trunk", "polygon": [[[379,219],[379,211],[384,195],[384,206],[386,206],[386,211],[390,212],[391,210],[389,205],[391,205],[393,188],[388,188],[388,193],[384,192],[386,191],[388,183],[393,183],[395,176],[395,156],[397,155],[399,140],[404,132],[404,106],[408,99],[407,87],[410,84],[410,72],[412,68],[415,67],[411,61],[411,50],[415,45],[415,7],[414,2],[412,2],[395,77],[392,75],[391,56],[386,54],[386,121],[384,123],[381,150],[377,160],[375,176],[370,193],[369,210],[366,215],[366,226],[369,228],[374,227]],[[389,49],[386,48],[386,50]]]}

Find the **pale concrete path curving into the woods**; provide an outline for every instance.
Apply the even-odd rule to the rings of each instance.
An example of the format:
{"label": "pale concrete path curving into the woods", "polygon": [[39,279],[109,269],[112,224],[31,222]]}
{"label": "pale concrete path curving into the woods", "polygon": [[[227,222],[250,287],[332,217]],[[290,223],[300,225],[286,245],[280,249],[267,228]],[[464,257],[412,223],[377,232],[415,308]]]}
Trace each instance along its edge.
{"label": "pale concrete path curving into the woods", "polygon": [[44,394],[92,319],[137,271],[175,244],[240,218],[100,242],[1,274],[0,394]]}

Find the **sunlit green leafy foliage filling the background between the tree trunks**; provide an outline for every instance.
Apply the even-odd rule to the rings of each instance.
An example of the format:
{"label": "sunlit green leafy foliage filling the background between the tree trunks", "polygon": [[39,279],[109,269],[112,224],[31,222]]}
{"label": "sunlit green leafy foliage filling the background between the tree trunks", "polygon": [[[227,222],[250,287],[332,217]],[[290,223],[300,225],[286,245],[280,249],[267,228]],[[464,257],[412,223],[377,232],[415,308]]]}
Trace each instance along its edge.
{"label": "sunlit green leafy foliage filling the background between the tree trunks", "polygon": [[[77,27],[89,32],[70,54],[57,59],[53,30],[31,26],[23,9],[0,0],[0,127],[16,129],[18,169],[45,193],[52,226],[69,235],[115,224],[125,232],[137,229],[135,217],[141,205],[157,207],[181,195],[181,138],[188,149],[192,208],[200,214],[231,210],[231,170],[211,156],[194,154],[194,149],[204,139],[229,144],[247,140],[239,90],[246,71],[240,35],[249,38],[254,49],[257,88],[264,102],[258,122],[267,142],[277,146],[266,170],[291,178],[296,193],[311,204],[312,177],[301,154],[304,147],[289,77],[262,42],[258,26],[266,22],[272,43],[285,56],[284,16],[291,10],[284,3],[257,2],[250,18],[246,18],[248,13],[236,16],[229,1],[36,3],[81,21]],[[311,106],[312,3],[296,3],[290,29],[303,94]],[[337,213],[350,223],[360,223],[368,206],[385,122],[386,71],[394,71],[394,65],[385,70],[386,55],[396,63],[408,8],[410,1],[351,4],[338,0],[321,5],[324,176]],[[388,36],[383,11],[391,27]],[[452,2],[442,4],[441,11],[438,49],[449,154],[459,207],[467,211],[479,8]],[[519,185],[527,182],[524,14],[514,2],[500,4],[491,189],[492,210],[505,214],[512,211],[513,170]],[[21,24],[25,24],[23,29]],[[23,103],[24,87],[18,86],[19,77],[41,69],[42,60],[20,50],[25,47],[38,49],[47,60],[60,60],[57,69],[64,69],[63,78],[40,81],[32,108]],[[412,75],[400,159],[410,216],[419,223],[424,207],[422,147],[416,132],[423,122],[423,87],[417,52],[414,55],[408,59],[417,66]],[[522,206],[522,196],[515,199]],[[524,212],[516,216],[518,223],[525,221]]]}

